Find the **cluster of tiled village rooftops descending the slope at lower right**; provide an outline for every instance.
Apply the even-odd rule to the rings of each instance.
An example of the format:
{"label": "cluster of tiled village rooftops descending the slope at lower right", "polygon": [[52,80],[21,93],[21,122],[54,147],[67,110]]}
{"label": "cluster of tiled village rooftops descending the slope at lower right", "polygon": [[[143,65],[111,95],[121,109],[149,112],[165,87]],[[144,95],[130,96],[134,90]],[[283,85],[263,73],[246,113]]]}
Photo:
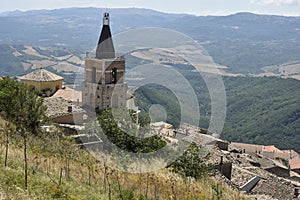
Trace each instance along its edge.
{"label": "cluster of tiled village rooftops descending the slope at lower right", "polygon": [[[274,145],[230,143],[188,124],[183,124],[179,129],[172,129],[165,123],[160,125],[160,133],[169,141],[172,138],[174,142],[176,137],[182,138],[184,135],[183,140],[209,149],[207,162],[214,163],[220,172],[216,178],[231,187],[249,192],[258,199],[292,199],[299,196],[298,152],[280,150]],[[253,184],[251,180],[254,180]]]}

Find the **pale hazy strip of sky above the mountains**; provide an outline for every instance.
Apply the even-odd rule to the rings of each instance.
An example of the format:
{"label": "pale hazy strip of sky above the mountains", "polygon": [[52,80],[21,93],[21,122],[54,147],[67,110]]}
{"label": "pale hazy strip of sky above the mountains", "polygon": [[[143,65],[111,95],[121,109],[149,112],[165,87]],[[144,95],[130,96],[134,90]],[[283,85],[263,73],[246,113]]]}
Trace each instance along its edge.
{"label": "pale hazy strip of sky above the mountains", "polygon": [[66,7],[138,7],[170,13],[227,15],[237,12],[300,16],[300,0],[0,0],[0,12]]}

